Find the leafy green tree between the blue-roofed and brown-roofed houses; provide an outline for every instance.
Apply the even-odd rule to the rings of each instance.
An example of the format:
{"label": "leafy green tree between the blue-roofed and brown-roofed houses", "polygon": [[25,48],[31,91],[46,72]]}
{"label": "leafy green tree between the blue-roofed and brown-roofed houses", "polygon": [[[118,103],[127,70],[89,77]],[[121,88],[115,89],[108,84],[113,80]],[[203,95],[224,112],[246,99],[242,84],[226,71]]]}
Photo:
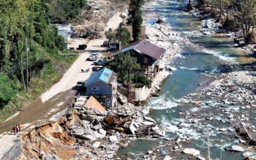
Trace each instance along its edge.
{"label": "leafy green tree between the blue-roofed and brown-roofed houses", "polygon": [[131,82],[131,73],[140,69],[140,65],[137,64],[137,60],[134,57],[122,53],[116,55],[109,65],[114,72],[118,73],[119,80],[127,84]]}

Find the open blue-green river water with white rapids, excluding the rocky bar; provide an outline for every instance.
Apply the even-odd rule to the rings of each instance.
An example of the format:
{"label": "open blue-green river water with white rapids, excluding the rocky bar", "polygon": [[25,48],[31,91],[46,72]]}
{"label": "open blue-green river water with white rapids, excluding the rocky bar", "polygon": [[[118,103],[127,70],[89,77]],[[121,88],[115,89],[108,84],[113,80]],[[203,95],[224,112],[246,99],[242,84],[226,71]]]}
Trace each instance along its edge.
{"label": "open blue-green river water with white rapids, excluding the rocky bar", "polygon": [[[160,97],[148,100],[145,104],[153,110],[150,116],[156,119],[160,124],[168,124],[171,129],[168,132],[168,137],[173,137],[179,132],[177,129],[178,113],[184,108],[177,107],[177,102],[185,95],[196,92],[198,84],[204,84],[211,76],[223,71],[223,67],[227,61],[235,63],[249,63],[253,58],[245,56],[244,52],[233,48],[233,41],[220,36],[203,35],[199,29],[201,21],[199,18],[192,17],[180,11],[180,7],[184,7],[188,1],[156,1],[153,4],[155,12],[167,20],[167,23],[172,25],[176,31],[179,31],[184,36],[187,36],[191,41],[194,41],[196,46],[184,46],[182,55],[185,58],[173,60],[173,66],[177,69],[173,71],[167,81],[164,81]],[[150,20],[148,23],[152,23]],[[214,123],[214,122],[212,122]],[[216,125],[216,124],[215,124]],[[201,152],[201,155],[207,157],[206,136],[200,135],[193,130],[185,130],[190,137],[194,137],[191,143],[184,143],[183,148],[196,148]],[[234,137],[227,135],[215,134],[210,137],[211,140],[223,139],[224,143],[211,144],[212,159],[243,159],[241,153],[231,153],[224,151],[225,146],[231,145]],[[128,148],[120,149],[117,156],[126,156],[127,153],[134,154],[134,158],[141,159],[141,155],[159,143],[158,140],[135,140]]]}

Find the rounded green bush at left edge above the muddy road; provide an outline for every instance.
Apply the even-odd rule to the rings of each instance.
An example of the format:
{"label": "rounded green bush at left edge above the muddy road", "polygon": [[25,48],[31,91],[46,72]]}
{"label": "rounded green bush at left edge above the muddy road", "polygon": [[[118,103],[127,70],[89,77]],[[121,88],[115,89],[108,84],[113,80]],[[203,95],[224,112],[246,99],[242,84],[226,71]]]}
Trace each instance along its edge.
{"label": "rounded green bush at left edge above the muddy road", "polygon": [[3,107],[17,93],[15,81],[9,79],[6,73],[0,73],[0,107]]}

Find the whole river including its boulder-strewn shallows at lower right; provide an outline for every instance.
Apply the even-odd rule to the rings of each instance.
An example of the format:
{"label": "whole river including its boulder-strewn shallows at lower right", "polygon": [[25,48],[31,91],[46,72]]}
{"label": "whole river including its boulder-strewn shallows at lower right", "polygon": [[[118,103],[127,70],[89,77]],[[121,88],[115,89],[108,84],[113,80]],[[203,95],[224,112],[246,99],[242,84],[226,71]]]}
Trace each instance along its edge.
{"label": "whole river including its boulder-strewn shallows at lower right", "polygon": [[[187,1],[155,1],[151,6],[162,19],[167,21],[167,24],[172,25],[175,31],[188,38],[188,45],[184,45],[180,54],[183,58],[175,58],[169,62],[177,70],[172,71],[172,74],[164,81],[160,97],[148,100],[145,104],[151,108],[149,115],[168,128],[167,138],[137,140],[128,148],[118,151],[117,155],[122,159],[197,159],[197,151],[195,156],[190,156],[183,153],[185,148],[195,148],[200,152],[201,159],[206,159],[208,133],[211,159],[244,159],[248,152],[255,152],[255,146],[241,144],[244,141],[241,137],[236,137],[235,130],[231,129],[233,120],[231,121],[228,117],[233,116],[233,119],[236,119],[232,123],[244,121],[244,126],[248,125],[249,128],[255,125],[255,101],[253,100],[255,84],[238,81],[243,78],[255,81],[255,76],[252,76],[255,75],[253,67],[255,58],[233,48],[233,41],[230,39],[201,33],[199,31],[201,20],[184,14],[178,9],[186,3]],[[155,22],[156,20],[148,20],[148,23]],[[209,84],[212,80],[207,79],[216,79],[216,81]],[[202,89],[204,84],[207,86],[209,84],[209,87]],[[238,90],[230,89],[232,85]],[[250,85],[252,85],[251,89],[244,88]],[[207,97],[206,91],[213,92],[212,98],[210,98],[211,95],[208,96],[211,101],[203,98]],[[196,94],[193,94],[195,92]],[[223,102],[219,94],[230,97],[233,101],[247,101],[248,96],[248,100],[252,101],[228,105],[229,101]],[[197,107],[197,105],[200,106]],[[237,110],[237,105],[241,111]],[[225,109],[231,114],[228,114]],[[247,115],[248,112],[249,115]],[[221,121],[219,116],[223,116],[224,120]],[[242,117],[247,116],[249,121],[246,122]],[[249,129],[249,134],[254,135],[253,129]],[[244,151],[225,151],[225,148],[231,148],[232,145],[241,145]]]}

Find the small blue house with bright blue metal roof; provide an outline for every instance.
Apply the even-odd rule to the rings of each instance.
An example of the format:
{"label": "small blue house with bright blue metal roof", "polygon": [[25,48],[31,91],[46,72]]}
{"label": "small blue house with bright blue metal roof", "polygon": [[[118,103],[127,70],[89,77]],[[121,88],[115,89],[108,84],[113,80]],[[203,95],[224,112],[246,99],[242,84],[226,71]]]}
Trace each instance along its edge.
{"label": "small blue house with bright blue metal roof", "polygon": [[103,68],[92,74],[84,85],[87,95],[95,95],[105,106],[111,107],[116,102],[117,79],[116,73]]}

